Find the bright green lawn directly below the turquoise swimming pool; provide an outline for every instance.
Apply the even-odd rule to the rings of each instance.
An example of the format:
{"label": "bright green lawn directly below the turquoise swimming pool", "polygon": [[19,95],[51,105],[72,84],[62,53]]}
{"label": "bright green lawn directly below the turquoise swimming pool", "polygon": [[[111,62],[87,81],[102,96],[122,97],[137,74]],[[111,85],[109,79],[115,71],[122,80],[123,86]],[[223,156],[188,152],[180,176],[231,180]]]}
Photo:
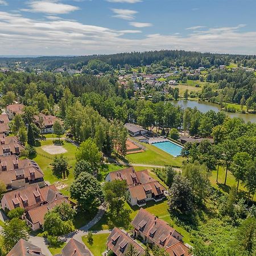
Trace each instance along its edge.
{"label": "bright green lawn directly below the turquoise swimming pool", "polygon": [[172,165],[176,167],[180,167],[183,161],[183,158],[178,157],[175,158],[172,155],[169,155],[167,152],[160,150],[159,148],[143,143],[143,146],[146,147],[146,151],[126,155],[126,159],[129,160],[131,164],[149,164],[155,166],[165,166]]}

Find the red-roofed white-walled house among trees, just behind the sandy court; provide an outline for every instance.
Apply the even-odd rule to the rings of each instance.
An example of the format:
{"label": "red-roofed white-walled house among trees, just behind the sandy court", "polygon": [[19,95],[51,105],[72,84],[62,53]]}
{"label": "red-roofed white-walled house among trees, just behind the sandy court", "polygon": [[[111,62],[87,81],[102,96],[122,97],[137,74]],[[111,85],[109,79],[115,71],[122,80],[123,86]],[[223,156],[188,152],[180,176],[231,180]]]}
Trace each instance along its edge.
{"label": "red-roofed white-walled house among trees, just behind the sandy court", "polygon": [[54,115],[45,115],[43,113],[35,115],[35,124],[42,130],[42,134],[53,133],[53,125],[56,121],[63,125],[63,121]]}

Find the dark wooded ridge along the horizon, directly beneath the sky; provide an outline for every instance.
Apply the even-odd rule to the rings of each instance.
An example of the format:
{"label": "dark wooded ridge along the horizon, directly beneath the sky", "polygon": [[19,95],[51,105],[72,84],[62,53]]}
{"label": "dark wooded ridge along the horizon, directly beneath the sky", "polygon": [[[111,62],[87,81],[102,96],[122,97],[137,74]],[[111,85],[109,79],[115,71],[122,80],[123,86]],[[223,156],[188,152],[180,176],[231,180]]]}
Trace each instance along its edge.
{"label": "dark wooded ridge along the horizon, directly beneath the sky", "polygon": [[230,60],[240,63],[244,67],[256,68],[256,56],[249,55],[228,55],[217,53],[200,53],[178,50],[162,50],[150,52],[131,52],[117,53],[113,55],[89,55],[74,57],[26,57],[26,58],[0,58],[1,66],[13,67],[14,63],[20,61],[25,67],[38,67],[46,70],[63,67],[63,65],[74,64],[76,67],[82,67],[88,64],[88,61],[98,59],[117,68],[117,65],[125,67],[132,65],[150,65],[152,63],[162,63],[167,65],[183,65],[184,67],[199,68],[212,67],[213,65],[225,65]]}

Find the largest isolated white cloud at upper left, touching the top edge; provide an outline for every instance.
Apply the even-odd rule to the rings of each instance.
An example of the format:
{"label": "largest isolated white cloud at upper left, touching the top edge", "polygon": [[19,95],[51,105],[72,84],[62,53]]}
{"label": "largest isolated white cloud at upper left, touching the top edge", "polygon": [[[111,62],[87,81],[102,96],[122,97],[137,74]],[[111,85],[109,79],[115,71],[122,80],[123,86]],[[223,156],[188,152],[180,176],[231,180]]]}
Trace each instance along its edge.
{"label": "largest isolated white cloud at upper left, touching the top edge", "polygon": [[79,10],[79,7],[73,5],[65,5],[56,0],[30,1],[28,2],[30,9],[22,9],[22,11],[31,11],[32,13],[47,14],[67,14],[71,11]]}

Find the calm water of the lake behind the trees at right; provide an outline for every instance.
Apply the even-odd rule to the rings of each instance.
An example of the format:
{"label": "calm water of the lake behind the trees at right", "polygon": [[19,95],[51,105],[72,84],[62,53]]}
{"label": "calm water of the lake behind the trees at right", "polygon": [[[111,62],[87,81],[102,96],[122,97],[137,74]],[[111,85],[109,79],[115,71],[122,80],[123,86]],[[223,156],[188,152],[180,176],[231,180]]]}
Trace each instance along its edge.
{"label": "calm water of the lake behind the trees at right", "polygon": [[[181,108],[186,109],[186,108],[197,108],[200,110],[200,112],[208,112],[209,110],[214,110],[215,112],[220,112],[220,106],[208,101],[185,101],[185,100],[179,100],[179,101],[172,101],[172,104],[176,106],[181,106]],[[238,117],[242,118],[245,120],[245,122],[252,122],[256,123],[256,114],[242,114],[242,113],[229,113],[229,112],[224,112],[226,115],[229,117]]]}

